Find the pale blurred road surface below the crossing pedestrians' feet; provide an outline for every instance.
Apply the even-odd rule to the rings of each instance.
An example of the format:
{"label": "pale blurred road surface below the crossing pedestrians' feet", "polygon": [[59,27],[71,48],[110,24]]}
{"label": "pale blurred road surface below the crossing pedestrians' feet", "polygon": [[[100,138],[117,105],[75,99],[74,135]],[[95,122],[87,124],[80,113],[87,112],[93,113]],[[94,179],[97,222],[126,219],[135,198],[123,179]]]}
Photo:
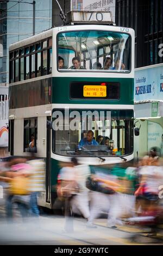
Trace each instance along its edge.
{"label": "pale blurred road surface below the crossing pedestrians' feet", "polygon": [[[72,224],[72,222],[71,222]],[[97,228],[87,228],[83,218],[73,218],[73,232],[64,230],[63,216],[41,216],[38,220],[22,222],[17,218],[14,223],[0,223],[1,245],[158,245],[162,244],[162,230],[156,237],[140,234],[136,227],[106,227],[106,219],[95,221]],[[147,231],[147,230],[146,230]],[[134,239],[135,237],[135,239]],[[158,240],[159,239],[159,240]]]}

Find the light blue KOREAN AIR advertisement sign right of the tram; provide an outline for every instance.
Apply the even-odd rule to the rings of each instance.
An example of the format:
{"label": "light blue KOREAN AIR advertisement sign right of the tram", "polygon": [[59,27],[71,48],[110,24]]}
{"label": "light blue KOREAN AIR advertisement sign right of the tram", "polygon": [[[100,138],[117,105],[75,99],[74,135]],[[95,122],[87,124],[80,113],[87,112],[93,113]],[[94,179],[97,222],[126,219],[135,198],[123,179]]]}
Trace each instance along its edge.
{"label": "light blue KOREAN AIR advertisement sign right of the tram", "polygon": [[163,64],[135,70],[134,100],[163,100]]}

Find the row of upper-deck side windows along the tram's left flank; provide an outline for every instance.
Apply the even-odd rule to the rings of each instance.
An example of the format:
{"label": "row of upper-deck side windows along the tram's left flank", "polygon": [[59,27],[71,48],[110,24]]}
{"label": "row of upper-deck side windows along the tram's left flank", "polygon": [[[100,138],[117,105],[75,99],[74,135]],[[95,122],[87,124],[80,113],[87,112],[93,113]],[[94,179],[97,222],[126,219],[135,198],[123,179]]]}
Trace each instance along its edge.
{"label": "row of upper-deck side windows along the tram's left flank", "polygon": [[52,38],[16,48],[9,60],[10,83],[52,74]]}

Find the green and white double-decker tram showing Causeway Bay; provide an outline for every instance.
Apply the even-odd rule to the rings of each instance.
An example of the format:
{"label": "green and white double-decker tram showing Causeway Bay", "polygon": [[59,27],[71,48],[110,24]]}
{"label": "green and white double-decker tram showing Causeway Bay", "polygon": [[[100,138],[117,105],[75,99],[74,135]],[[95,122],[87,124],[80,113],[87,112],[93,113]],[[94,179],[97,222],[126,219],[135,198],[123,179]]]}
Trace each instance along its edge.
{"label": "green and white double-decker tram showing Causeway Bay", "polygon": [[45,157],[42,205],[50,208],[55,197],[59,161],[133,159],[133,29],[100,22],[54,27],[9,51],[10,149],[28,155],[33,143]]}

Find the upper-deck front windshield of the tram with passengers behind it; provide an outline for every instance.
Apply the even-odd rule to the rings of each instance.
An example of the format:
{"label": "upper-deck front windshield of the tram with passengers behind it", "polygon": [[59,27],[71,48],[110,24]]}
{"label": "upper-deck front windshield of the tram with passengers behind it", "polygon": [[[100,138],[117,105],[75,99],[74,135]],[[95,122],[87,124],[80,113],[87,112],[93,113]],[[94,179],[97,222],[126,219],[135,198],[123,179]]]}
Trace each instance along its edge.
{"label": "upper-deck front windshield of the tram with passengers behind it", "polygon": [[59,71],[84,69],[130,72],[130,53],[129,34],[110,31],[75,31],[58,35]]}

